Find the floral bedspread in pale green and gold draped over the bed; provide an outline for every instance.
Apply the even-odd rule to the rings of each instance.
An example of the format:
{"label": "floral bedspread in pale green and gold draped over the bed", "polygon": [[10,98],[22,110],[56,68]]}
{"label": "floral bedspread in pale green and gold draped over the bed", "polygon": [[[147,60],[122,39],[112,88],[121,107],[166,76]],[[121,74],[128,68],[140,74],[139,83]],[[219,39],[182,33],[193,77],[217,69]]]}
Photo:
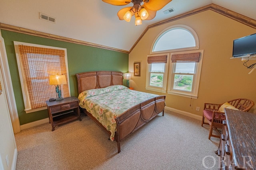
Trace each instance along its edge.
{"label": "floral bedspread in pale green and gold draped over the bed", "polygon": [[79,94],[80,107],[91,113],[108,131],[114,141],[115,118],[129,108],[158,95],[130,90],[126,86],[115,85],[106,88],[86,90]]}

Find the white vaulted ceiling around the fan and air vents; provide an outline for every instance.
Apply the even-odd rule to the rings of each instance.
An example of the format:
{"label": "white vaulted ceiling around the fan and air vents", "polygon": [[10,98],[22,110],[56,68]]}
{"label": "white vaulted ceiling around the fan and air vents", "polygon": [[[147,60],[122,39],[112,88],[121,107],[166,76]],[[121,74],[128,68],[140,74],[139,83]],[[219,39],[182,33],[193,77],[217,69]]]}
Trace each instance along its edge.
{"label": "white vaulted ceiling around the fan and air vents", "polygon": [[[179,14],[216,4],[256,20],[256,0],[172,0],[142,25],[120,21],[117,12],[130,5],[113,6],[101,0],[1,0],[0,23],[87,41],[129,51],[148,25]],[[163,11],[174,8],[174,12]],[[56,18],[56,23],[39,19],[39,12]]]}

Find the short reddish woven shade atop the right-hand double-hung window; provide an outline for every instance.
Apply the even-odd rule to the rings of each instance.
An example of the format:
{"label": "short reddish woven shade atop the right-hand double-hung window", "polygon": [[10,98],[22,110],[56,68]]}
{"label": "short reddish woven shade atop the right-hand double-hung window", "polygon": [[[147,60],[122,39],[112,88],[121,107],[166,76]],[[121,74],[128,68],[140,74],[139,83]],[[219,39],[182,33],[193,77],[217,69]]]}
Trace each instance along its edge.
{"label": "short reddish woven shade atop the right-hand double-hung window", "polygon": [[172,55],[172,63],[186,63],[186,62],[196,62],[198,63],[200,59],[200,52],[197,53],[183,53]]}

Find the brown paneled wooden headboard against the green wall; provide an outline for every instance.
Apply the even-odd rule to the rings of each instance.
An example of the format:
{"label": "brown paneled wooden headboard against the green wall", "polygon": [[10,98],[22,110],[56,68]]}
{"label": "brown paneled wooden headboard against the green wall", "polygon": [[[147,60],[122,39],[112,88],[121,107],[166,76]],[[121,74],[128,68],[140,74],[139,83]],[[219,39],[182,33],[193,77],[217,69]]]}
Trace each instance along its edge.
{"label": "brown paneled wooden headboard against the green wall", "polygon": [[76,74],[78,94],[84,90],[123,84],[123,73],[117,71],[91,71]]}

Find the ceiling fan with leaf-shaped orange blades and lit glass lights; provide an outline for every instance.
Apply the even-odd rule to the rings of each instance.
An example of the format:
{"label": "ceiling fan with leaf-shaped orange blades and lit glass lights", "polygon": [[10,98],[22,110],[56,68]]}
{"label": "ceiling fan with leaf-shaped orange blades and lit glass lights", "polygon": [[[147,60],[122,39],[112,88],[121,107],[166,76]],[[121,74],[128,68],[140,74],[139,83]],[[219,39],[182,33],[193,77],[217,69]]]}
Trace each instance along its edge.
{"label": "ceiling fan with leaf-shaped orange blades and lit glass lights", "polygon": [[[152,20],[156,16],[156,11],[162,9],[172,0],[102,0],[108,4],[122,6],[133,3],[132,7],[122,8],[118,11],[119,20],[130,22],[135,15],[135,25],[141,25],[142,20]],[[143,4],[142,4],[143,2]]]}

